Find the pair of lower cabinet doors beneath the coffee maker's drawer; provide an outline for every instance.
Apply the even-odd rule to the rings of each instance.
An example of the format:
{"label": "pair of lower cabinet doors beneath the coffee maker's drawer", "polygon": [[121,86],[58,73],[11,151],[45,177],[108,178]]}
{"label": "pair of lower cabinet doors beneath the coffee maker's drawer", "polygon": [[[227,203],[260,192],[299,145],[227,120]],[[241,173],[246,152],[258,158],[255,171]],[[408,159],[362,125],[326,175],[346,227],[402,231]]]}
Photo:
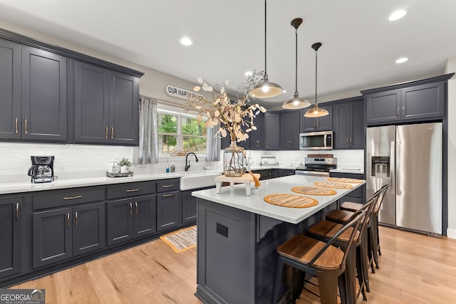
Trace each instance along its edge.
{"label": "pair of lower cabinet doors beneath the coffee maker's drawer", "polygon": [[33,212],[33,268],[105,247],[105,203]]}

